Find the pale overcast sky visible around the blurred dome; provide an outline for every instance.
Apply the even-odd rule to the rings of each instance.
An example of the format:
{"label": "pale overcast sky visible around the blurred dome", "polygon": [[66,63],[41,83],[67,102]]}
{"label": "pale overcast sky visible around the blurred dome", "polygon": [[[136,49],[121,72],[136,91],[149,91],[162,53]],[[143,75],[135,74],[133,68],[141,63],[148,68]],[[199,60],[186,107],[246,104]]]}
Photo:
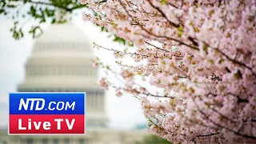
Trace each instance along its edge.
{"label": "pale overcast sky visible around the blurred dome", "polygon": [[[122,47],[103,34],[100,28],[90,22],[83,22],[80,16],[74,17],[74,24],[86,35],[90,42],[97,42],[106,47]],[[27,31],[33,22],[26,22],[24,30]],[[25,37],[15,41],[10,33],[13,21],[0,17],[0,126],[7,126],[8,121],[8,93],[15,92],[18,83],[24,81],[25,62],[33,49],[34,39],[25,33]],[[43,26],[47,30],[47,26]],[[111,52],[94,50],[94,54],[102,58],[103,62],[114,65]],[[100,71],[102,75],[102,71]],[[114,90],[106,92],[106,114],[110,119],[109,126],[118,129],[131,129],[137,124],[145,122],[140,102],[129,95],[118,98]]]}

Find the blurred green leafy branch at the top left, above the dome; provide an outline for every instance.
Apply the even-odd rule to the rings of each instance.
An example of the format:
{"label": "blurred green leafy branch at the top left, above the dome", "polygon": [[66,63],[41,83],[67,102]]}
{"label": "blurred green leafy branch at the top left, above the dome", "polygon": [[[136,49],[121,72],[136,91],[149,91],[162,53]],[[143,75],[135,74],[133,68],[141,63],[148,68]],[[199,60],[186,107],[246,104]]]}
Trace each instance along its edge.
{"label": "blurred green leafy branch at the top left, above the dome", "polygon": [[[42,24],[66,23],[70,21],[70,17],[66,17],[66,15],[74,15],[76,11],[82,9],[86,10],[86,5],[81,5],[78,0],[0,1],[0,17],[11,18],[14,21],[10,32],[15,40],[23,38],[26,35],[25,33],[30,34],[33,38],[38,38],[43,33]],[[25,32],[24,26],[26,22],[31,21],[33,21],[34,25],[30,27],[30,30]],[[105,27],[99,27],[102,32],[108,33]],[[120,38],[115,34],[110,33],[109,38],[122,45],[133,46],[132,42],[127,42],[124,38]]]}

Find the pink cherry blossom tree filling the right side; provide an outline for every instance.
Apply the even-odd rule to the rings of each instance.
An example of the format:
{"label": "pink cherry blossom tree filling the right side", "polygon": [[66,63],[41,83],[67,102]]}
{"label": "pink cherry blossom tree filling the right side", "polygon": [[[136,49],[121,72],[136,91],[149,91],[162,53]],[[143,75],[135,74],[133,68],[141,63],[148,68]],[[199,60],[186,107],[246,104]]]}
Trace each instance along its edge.
{"label": "pink cherry blossom tree filling the right side", "polygon": [[[153,134],[174,143],[256,142],[255,0],[82,0],[83,19],[133,42],[112,50]],[[133,59],[128,65],[122,58]],[[142,84],[143,83],[143,84]],[[148,84],[149,86],[146,86]]]}

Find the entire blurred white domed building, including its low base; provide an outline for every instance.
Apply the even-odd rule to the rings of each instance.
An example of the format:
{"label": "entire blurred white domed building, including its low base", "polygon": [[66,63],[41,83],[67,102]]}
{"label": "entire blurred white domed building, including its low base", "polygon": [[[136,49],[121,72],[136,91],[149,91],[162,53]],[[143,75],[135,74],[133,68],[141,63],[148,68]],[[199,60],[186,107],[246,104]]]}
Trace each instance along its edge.
{"label": "entire blurred white domed building, including its low base", "polygon": [[86,135],[7,136],[0,131],[0,144],[130,144],[146,130],[111,130],[107,127],[105,92],[98,82],[98,69],[86,35],[72,23],[52,25],[34,43],[26,62],[26,79],[20,92],[86,92]]}

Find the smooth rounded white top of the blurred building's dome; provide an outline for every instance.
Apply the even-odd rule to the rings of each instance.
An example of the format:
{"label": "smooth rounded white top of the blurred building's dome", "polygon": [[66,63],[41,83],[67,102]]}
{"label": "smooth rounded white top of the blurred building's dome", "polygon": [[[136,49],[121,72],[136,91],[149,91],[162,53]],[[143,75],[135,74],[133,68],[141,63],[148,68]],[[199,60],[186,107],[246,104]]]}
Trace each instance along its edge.
{"label": "smooth rounded white top of the blurred building's dome", "polygon": [[[34,55],[81,55],[92,57],[90,42],[71,22],[51,25],[34,43]],[[68,54],[66,54],[68,53]]]}

